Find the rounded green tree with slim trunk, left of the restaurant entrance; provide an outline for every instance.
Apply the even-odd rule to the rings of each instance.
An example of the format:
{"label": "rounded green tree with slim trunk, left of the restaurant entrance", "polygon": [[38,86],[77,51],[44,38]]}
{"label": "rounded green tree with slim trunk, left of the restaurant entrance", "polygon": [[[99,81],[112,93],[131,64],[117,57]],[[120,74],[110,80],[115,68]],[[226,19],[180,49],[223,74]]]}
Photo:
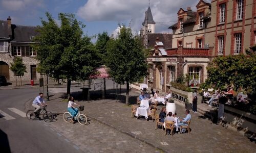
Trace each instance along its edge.
{"label": "rounded green tree with slim trunk, left of the restaurant entrance", "polygon": [[146,56],[138,36],[132,30],[120,26],[117,38],[112,37],[106,46],[105,65],[110,75],[119,84],[126,83],[125,104],[129,105],[129,84],[147,75]]}

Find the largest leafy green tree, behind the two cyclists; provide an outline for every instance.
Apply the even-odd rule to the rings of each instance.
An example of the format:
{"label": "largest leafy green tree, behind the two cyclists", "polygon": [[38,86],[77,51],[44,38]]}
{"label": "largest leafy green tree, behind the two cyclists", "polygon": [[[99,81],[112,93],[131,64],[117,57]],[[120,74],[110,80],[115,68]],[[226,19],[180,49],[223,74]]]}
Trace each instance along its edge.
{"label": "largest leafy green tree, behind the two cyclists", "polygon": [[39,36],[34,44],[40,66],[54,79],[67,79],[67,93],[70,95],[72,80],[88,79],[99,65],[96,49],[87,35],[85,27],[73,14],[59,13],[57,25],[52,15],[46,12],[47,21],[41,19]]}

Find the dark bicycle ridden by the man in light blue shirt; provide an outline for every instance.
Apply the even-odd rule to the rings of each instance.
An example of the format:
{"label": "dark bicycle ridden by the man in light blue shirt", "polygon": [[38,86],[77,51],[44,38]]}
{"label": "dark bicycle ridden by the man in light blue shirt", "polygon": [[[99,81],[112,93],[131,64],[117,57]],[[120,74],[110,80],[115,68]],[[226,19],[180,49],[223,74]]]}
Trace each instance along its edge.
{"label": "dark bicycle ridden by the man in light blue shirt", "polygon": [[[38,110],[37,113],[39,113],[40,115],[43,112],[45,112],[44,115],[42,115],[42,119],[44,119],[45,122],[51,122],[53,120],[53,114],[52,112],[47,111],[46,107],[47,106],[44,106],[42,109]],[[29,120],[34,120],[35,119],[34,110],[28,110],[26,116]]]}

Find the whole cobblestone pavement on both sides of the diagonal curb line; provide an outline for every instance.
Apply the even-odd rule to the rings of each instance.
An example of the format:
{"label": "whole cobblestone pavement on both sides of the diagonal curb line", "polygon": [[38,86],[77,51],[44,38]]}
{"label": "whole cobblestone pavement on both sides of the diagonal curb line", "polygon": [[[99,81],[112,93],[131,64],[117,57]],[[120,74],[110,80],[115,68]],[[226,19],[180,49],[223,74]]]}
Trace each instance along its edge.
{"label": "whole cobblestone pavement on both sides of the diagonal curb line", "polygon": [[[138,93],[132,91],[130,95],[138,95]],[[48,103],[50,111],[60,113],[67,110],[67,102],[60,102],[61,98],[57,97],[51,99]],[[86,152],[156,152],[155,148],[161,148],[165,152],[255,152],[256,150],[256,144],[239,132],[214,124],[199,113],[191,112],[190,134],[174,134],[172,137],[164,136],[164,131],[160,128],[155,130],[155,122],[152,120],[131,118],[131,107],[116,100],[77,103],[85,106],[84,114],[101,123],[94,119],[90,121],[91,124],[84,126],[78,123],[66,123],[62,121],[62,114],[59,114],[58,120],[50,123],[50,126]],[[157,113],[161,107],[158,106]],[[176,105],[176,112],[181,118],[185,117],[184,106]]]}

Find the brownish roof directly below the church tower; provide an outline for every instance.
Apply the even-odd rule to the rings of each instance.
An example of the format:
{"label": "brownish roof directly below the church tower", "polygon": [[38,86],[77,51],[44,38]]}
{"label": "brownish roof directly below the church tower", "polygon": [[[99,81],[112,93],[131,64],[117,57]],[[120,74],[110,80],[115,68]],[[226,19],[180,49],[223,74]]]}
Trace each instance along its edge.
{"label": "brownish roof directly below the church tower", "polygon": [[148,47],[154,48],[157,37],[163,43],[163,48],[172,48],[173,34],[162,33],[148,34]]}

